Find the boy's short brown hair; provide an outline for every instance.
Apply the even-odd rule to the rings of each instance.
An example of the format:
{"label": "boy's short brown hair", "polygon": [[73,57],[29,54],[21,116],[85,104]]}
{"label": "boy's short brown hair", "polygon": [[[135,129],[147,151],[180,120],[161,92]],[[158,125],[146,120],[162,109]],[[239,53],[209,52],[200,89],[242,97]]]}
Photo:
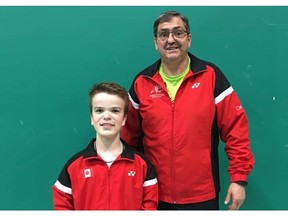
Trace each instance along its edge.
{"label": "boy's short brown hair", "polygon": [[127,90],[115,82],[101,82],[92,86],[89,92],[89,106],[90,114],[92,114],[92,98],[98,93],[107,93],[111,95],[117,95],[124,100],[124,115],[128,113],[129,96]]}

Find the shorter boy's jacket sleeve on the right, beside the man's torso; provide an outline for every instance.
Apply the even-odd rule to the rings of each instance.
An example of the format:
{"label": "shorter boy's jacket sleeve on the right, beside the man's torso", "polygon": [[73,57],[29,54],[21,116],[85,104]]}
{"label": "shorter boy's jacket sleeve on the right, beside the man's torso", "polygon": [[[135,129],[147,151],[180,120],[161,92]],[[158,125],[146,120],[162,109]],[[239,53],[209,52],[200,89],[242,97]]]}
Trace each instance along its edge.
{"label": "shorter boy's jacket sleeve on the right, beside the man's torso", "polygon": [[143,183],[143,202],[142,210],[157,210],[158,207],[158,181],[155,169],[150,161],[148,164],[147,175]]}

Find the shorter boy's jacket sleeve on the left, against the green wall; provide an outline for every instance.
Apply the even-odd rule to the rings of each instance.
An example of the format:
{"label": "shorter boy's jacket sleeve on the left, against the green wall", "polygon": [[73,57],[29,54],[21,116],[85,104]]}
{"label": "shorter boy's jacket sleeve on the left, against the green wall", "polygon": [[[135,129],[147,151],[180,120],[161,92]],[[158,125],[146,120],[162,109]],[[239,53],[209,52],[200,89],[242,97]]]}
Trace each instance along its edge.
{"label": "shorter boy's jacket sleeve on the left, against the green wall", "polygon": [[70,178],[66,166],[52,187],[54,210],[74,210]]}

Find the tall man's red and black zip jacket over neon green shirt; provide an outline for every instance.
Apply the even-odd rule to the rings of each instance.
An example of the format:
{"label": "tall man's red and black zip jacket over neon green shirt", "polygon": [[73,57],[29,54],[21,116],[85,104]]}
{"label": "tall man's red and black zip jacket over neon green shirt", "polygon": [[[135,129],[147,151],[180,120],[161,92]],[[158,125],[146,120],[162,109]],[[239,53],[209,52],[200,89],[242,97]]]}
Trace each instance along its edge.
{"label": "tall man's red and black zip jacket over neon green shirt", "polygon": [[121,134],[129,144],[142,143],[156,169],[159,199],[168,203],[203,202],[219,193],[219,133],[231,182],[247,181],[254,165],[247,116],[232,86],[217,66],[189,57],[191,70],[174,102],[158,71],[161,60],[135,77]]}

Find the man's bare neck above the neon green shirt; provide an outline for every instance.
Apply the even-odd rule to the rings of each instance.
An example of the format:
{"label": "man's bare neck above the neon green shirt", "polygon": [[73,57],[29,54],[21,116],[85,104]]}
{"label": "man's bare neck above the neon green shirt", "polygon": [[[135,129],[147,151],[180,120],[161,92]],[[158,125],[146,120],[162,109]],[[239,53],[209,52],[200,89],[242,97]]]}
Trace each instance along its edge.
{"label": "man's bare neck above the neon green shirt", "polygon": [[181,74],[187,68],[187,64],[189,62],[189,56],[187,55],[185,58],[174,61],[165,61],[162,60],[162,67],[165,74],[168,76],[177,76]]}

